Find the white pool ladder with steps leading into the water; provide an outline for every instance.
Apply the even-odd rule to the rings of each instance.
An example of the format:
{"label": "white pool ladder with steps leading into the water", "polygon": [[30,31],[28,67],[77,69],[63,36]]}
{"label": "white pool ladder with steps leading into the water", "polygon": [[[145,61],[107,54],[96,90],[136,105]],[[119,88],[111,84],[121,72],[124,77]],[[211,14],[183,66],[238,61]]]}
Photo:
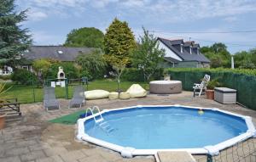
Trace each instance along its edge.
{"label": "white pool ladder with steps leading into the water", "polygon": [[[97,110],[97,112],[100,112],[100,109],[99,107],[97,106],[93,106],[92,109],[90,108],[87,108],[86,109],[86,113],[85,113],[85,116],[87,116],[87,113],[88,111],[90,110],[90,113],[91,115],[94,115],[94,110]],[[104,120],[103,117],[102,117],[102,114],[99,115],[99,119],[96,119],[96,116],[94,115],[93,116],[96,124],[98,126],[100,126],[102,128],[103,131],[107,132],[108,134],[111,133],[112,131],[114,131],[113,127],[110,126],[110,124],[108,123],[108,121]]]}

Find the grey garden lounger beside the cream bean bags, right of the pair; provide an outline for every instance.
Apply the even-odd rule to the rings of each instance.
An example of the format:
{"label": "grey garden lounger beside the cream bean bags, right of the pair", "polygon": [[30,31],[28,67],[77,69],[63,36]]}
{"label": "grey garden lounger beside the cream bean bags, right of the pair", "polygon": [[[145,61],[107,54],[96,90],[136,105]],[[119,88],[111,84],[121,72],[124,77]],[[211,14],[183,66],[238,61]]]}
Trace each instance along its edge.
{"label": "grey garden lounger beside the cream bean bags, right of the pair", "polygon": [[76,86],[73,91],[73,98],[70,100],[68,109],[72,109],[73,106],[78,106],[81,108],[85,103],[84,87]]}

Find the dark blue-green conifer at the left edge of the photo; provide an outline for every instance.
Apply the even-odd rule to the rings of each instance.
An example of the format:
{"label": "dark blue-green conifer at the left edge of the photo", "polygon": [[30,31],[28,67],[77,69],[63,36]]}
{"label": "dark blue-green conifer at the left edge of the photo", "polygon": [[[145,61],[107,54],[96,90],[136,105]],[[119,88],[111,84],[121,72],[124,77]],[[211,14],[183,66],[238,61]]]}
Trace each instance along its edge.
{"label": "dark blue-green conifer at the left edge of the photo", "polygon": [[28,30],[20,25],[26,20],[27,10],[16,12],[14,3],[0,0],[0,60],[12,66],[32,42]]}

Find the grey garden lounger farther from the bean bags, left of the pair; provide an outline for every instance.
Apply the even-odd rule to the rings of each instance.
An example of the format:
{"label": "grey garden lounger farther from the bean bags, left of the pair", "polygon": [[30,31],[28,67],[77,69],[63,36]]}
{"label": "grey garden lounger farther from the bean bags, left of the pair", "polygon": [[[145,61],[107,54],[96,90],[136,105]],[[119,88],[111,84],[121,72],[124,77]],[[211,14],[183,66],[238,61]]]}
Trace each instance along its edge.
{"label": "grey garden lounger farther from the bean bags, left of the pair", "polygon": [[44,109],[49,111],[49,109],[61,109],[60,103],[55,97],[54,87],[44,87]]}

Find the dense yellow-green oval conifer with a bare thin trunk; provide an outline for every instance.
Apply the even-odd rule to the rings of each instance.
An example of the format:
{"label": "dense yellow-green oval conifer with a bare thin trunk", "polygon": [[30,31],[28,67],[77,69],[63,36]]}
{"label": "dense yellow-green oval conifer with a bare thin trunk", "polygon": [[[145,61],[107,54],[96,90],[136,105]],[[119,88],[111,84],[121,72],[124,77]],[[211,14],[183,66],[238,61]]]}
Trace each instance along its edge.
{"label": "dense yellow-green oval conifer with a bare thin trunk", "polygon": [[114,19],[104,36],[105,58],[116,72],[118,90],[120,76],[130,62],[131,50],[136,47],[135,38],[127,22]]}

